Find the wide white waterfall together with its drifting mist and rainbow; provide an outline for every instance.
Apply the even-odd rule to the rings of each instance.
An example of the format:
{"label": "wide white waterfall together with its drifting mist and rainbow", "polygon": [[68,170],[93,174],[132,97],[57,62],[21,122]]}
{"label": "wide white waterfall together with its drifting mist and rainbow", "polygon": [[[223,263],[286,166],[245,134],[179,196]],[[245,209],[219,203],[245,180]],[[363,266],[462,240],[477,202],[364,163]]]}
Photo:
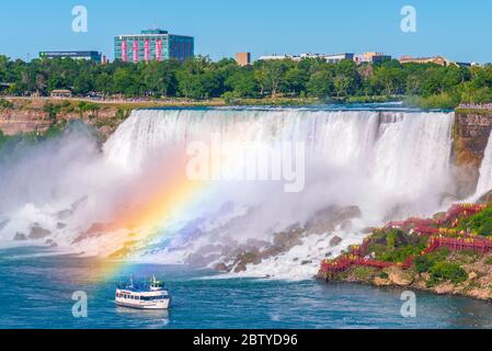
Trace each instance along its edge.
{"label": "wide white waterfall together with its drifting mist and rainbow", "polygon": [[[76,124],[55,139],[1,158],[1,245],[50,245],[107,257],[131,242],[134,259],[211,265],[238,248],[272,244],[275,235],[323,211],[356,206],[362,215],[348,229],[318,233],[316,239],[341,236],[336,250],[342,250],[362,240],[366,227],[446,205],[443,194],[455,192],[453,117],[288,109],[136,111],[102,147],[88,127]],[[217,134],[225,143],[272,149],[304,143],[304,190],[286,192],[285,179],[194,184],[185,174],[187,146]],[[237,167],[250,162],[232,150],[227,158]],[[309,240],[294,249],[296,256],[325,252]],[[294,269],[285,262],[291,256],[282,257],[250,273],[279,270],[281,263]]]}

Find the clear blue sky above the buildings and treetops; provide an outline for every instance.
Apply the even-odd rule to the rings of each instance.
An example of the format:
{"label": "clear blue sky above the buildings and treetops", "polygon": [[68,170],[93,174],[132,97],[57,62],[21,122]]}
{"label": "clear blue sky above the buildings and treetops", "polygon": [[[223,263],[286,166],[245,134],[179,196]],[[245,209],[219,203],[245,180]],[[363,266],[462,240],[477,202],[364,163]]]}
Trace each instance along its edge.
{"label": "clear blue sky above the buildings and treetops", "polygon": [[[71,31],[71,10],[85,5],[89,32]],[[400,9],[417,11],[417,32],[400,31]],[[214,59],[251,52],[444,55],[492,61],[488,0],[7,0],[0,8],[0,54],[94,49],[113,58],[113,36],[157,24],[195,36],[196,54]],[[28,56],[30,55],[30,56]]]}

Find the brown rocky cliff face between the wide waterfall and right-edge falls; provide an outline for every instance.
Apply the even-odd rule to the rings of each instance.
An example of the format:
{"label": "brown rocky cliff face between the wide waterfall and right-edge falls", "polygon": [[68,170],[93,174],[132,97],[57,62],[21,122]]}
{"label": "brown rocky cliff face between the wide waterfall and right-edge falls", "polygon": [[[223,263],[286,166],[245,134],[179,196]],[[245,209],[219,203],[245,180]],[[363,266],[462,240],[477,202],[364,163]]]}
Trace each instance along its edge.
{"label": "brown rocky cliff face between the wide waterfall and right-edge falls", "polygon": [[454,159],[460,189],[458,195],[466,196],[474,192],[491,131],[492,111],[479,109],[456,111]]}

